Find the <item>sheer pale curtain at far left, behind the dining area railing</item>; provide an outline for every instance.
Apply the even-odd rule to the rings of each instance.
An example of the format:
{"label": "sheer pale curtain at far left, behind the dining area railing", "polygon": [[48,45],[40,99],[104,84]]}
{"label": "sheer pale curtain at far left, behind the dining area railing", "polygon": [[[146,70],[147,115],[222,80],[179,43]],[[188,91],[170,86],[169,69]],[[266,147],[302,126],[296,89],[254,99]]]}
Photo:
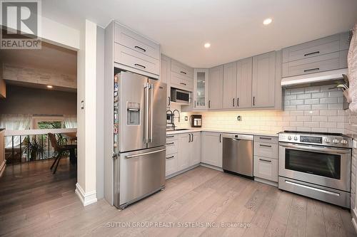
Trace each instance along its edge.
{"label": "sheer pale curtain at far left, behind the dining area railing", "polygon": [[[32,115],[0,115],[0,127],[6,130],[29,130],[31,126]],[[23,142],[25,137],[15,136],[14,146]],[[5,147],[12,147],[11,137],[5,138]]]}

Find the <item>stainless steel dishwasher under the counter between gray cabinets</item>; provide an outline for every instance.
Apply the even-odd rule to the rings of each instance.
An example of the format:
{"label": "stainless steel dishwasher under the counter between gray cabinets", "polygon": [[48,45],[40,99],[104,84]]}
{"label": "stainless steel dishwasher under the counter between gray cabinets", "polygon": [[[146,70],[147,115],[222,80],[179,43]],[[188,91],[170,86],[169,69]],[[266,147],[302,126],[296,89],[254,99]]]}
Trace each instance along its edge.
{"label": "stainless steel dishwasher under the counter between gray cabinets", "polygon": [[223,134],[223,170],[253,177],[253,136]]}

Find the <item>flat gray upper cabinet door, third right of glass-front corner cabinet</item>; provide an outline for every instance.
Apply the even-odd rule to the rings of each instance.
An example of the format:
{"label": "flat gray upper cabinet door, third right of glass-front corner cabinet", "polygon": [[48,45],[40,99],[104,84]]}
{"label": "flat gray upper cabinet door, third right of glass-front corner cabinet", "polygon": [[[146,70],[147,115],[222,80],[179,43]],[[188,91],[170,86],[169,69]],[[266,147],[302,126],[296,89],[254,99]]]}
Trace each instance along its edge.
{"label": "flat gray upper cabinet door, third right of glass-front corner cabinet", "polygon": [[236,107],[239,109],[250,108],[252,80],[252,58],[245,58],[237,62],[237,99]]}

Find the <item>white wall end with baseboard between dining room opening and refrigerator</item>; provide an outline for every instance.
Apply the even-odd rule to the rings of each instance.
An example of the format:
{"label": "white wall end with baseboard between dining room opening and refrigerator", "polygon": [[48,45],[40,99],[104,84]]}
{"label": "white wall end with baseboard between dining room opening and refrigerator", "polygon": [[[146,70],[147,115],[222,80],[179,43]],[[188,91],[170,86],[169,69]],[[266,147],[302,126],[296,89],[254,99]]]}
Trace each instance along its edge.
{"label": "white wall end with baseboard between dining room opening and refrigerator", "polygon": [[[76,194],[84,206],[96,198],[96,24],[86,20],[78,51],[78,164]],[[82,108],[82,101],[84,107]]]}

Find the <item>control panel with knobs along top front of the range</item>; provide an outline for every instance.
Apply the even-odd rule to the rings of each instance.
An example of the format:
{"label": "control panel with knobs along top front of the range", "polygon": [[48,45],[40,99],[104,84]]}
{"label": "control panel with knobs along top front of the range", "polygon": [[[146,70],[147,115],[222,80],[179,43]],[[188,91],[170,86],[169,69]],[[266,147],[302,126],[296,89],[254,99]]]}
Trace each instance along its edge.
{"label": "control panel with knobs along top front of the range", "polygon": [[344,136],[328,136],[313,134],[293,134],[281,132],[279,142],[291,142],[301,144],[317,144],[328,147],[348,147],[352,148],[352,139]]}

